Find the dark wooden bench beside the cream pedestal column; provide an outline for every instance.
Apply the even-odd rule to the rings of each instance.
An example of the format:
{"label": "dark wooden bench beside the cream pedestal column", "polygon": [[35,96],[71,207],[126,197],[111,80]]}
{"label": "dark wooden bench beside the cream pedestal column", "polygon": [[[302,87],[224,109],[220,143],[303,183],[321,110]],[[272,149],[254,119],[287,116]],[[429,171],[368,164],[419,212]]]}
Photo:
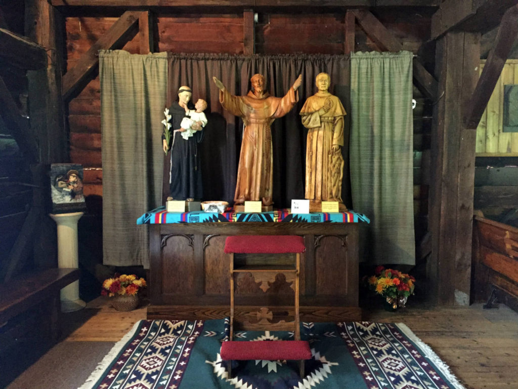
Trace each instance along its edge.
{"label": "dark wooden bench beside the cream pedestal column", "polygon": [[[60,289],[79,279],[79,269],[47,269],[0,284],[2,348],[27,334],[55,343],[59,338]],[[36,328],[27,328],[37,326]]]}

